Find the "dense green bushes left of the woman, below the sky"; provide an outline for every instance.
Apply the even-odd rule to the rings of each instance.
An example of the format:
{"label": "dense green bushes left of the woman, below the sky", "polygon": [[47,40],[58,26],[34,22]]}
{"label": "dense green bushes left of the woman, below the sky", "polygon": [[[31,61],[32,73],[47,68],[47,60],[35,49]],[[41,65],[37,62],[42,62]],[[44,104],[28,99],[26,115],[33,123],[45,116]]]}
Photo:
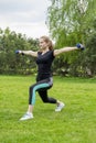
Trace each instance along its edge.
{"label": "dense green bushes left of the woman, below the sky", "polygon": [[38,40],[26,38],[9,28],[0,30],[0,74],[30,74],[35,70],[33,57],[15,55],[15,50],[38,50]]}

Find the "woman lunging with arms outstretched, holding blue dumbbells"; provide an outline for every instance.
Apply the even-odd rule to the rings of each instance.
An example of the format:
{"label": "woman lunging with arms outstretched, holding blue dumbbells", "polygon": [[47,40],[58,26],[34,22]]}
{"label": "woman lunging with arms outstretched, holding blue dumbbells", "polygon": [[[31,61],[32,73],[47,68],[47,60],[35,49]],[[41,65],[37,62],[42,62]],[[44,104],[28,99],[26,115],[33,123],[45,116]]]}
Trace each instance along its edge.
{"label": "woman lunging with arms outstretched, holding blue dumbbells", "polygon": [[35,91],[39,92],[41,99],[45,103],[56,103],[55,111],[61,111],[64,108],[64,103],[47,96],[47,89],[53,85],[51,66],[55,56],[75,51],[77,48],[84,48],[82,44],[77,44],[76,47],[63,47],[60,50],[53,50],[52,41],[47,36],[41,36],[39,40],[40,51],[15,51],[17,54],[31,55],[36,57],[38,76],[36,84],[32,85],[29,89],[29,108],[26,113],[20,119],[28,120],[33,118],[33,107],[35,103]]}

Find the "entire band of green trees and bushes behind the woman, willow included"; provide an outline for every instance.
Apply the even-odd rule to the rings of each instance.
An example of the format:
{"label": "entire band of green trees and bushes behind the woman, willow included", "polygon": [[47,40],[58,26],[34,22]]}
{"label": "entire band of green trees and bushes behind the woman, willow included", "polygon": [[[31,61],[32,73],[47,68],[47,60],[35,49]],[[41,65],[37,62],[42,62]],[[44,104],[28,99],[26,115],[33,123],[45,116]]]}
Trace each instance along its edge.
{"label": "entire band of green trees and bushes behind the woman, willow included", "polygon": [[[53,64],[55,75],[94,77],[96,75],[96,1],[51,0],[45,23],[54,48],[84,44],[85,51],[62,54]],[[34,74],[33,57],[18,56],[15,50],[39,50],[38,38],[0,29],[0,74]]]}

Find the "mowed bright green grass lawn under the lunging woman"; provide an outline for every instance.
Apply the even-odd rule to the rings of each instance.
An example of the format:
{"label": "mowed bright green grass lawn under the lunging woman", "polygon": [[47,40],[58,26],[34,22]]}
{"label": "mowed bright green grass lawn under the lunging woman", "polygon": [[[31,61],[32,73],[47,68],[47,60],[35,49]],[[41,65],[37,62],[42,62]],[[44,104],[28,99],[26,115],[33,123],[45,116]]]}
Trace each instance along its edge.
{"label": "mowed bright green grass lawn under the lunging woman", "polygon": [[49,96],[65,108],[43,103],[36,94],[34,119],[28,109],[34,76],[0,76],[0,143],[96,143],[96,79],[54,77]]}

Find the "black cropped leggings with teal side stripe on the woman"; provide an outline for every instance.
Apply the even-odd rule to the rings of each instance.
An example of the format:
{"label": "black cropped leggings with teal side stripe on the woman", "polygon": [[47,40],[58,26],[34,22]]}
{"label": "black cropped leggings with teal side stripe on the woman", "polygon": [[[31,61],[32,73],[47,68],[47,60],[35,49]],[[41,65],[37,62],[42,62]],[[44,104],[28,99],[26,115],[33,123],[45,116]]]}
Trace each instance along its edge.
{"label": "black cropped leggings with teal side stripe on the woman", "polygon": [[56,99],[47,97],[47,89],[53,86],[53,78],[46,78],[32,85],[29,89],[29,105],[35,103],[35,91],[39,92],[41,99],[45,103],[56,103]]}

